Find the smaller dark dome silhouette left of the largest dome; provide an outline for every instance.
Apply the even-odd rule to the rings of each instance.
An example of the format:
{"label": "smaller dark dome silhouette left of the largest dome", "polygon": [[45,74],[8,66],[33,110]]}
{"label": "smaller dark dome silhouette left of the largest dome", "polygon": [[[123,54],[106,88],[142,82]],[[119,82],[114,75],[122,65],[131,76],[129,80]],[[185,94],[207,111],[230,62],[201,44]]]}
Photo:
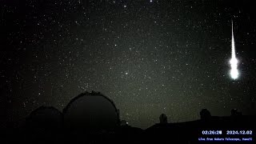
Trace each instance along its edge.
{"label": "smaller dark dome silhouette left of the largest dome", "polygon": [[28,143],[57,142],[57,135],[62,131],[62,122],[63,115],[59,110],[41,106],[26,118],[23,138]]}

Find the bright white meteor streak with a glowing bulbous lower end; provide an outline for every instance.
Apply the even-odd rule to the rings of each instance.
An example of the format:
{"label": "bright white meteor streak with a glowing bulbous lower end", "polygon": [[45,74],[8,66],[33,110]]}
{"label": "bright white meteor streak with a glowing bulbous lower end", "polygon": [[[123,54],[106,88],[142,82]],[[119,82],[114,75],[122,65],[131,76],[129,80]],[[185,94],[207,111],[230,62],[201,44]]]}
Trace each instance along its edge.
{"label": "bright white meteor streak with a glowing bulbous lower end", "polygon": [[232,21],[232,58],[230,59],[230,76],[233,79],[238,78],[238,59],[235,58],[235,50],[234,50],[234,32],[233,32],[233,21]]}

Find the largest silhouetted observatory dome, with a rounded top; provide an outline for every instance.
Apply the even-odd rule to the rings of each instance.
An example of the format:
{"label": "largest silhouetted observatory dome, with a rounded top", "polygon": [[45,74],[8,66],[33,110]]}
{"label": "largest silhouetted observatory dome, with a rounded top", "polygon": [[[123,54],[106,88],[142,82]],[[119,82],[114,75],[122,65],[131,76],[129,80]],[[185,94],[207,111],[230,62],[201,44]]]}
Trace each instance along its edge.
{"label": "largest silhouetted observatory dome, with a rounded top", "polygon": [[120,125],[114,102],[95,91],[73,98],[64,108],[63,114],[65,126],[73,130],[110,130]]}

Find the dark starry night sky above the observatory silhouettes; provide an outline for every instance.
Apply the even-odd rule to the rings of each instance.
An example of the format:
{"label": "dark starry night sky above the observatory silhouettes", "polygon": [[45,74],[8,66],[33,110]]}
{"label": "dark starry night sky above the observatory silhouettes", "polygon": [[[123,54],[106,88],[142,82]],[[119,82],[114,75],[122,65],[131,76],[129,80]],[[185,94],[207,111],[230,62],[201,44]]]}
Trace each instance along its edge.
{"label": "dark starry night sky above the observatory silhouettes", "polygon": [[[255,114],[256,2],[168,0],[0,1],[1,116],[62,110],[100,91],[121,119],[146,128]],[[240,76],[230,78],[231,20]]]}

